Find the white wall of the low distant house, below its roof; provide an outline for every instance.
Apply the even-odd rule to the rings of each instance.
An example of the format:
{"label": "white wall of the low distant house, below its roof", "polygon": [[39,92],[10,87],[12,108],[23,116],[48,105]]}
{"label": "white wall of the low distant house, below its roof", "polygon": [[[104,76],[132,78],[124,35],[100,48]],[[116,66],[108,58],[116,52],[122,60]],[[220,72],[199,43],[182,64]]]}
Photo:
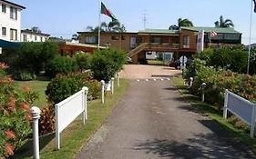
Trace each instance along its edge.
{"label": "white wall of the low distant house, below its roof", "polygon": [[[24,38],[25,35],[26,35],[26,39]],[[46,42],[48,38],[49,36],[47,35],[39,35],[39,34],[31,34],[31,33],[21,33],[21,36],[20,36],[21,42]]]}

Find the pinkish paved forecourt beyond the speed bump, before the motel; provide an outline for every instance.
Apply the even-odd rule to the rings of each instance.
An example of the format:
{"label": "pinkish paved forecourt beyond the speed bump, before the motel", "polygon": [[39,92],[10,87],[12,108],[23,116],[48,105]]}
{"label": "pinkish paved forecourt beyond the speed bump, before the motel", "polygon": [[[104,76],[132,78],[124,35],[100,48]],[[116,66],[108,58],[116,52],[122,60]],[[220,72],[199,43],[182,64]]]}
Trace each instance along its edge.
{"label": "pinkish paved forecourt beyond the speed bump, before the motel", "polygon": [[125,65],[120,76],[127,79],[145,79],[169,77],[179,75],[181,72],[169,66],[159,65]]}

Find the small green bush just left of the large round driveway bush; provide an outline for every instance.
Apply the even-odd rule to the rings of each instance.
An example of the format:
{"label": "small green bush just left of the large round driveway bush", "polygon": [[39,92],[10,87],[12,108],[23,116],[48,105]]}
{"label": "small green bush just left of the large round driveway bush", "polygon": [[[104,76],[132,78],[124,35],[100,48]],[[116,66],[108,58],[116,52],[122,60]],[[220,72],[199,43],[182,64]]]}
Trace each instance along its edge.
{"label": "small green bush just left of the large round driveway bush", "polygon": [[91,55],[87,53],[77,53],[75,55],[77,65],[80,70],[87,70],[90,68]]}

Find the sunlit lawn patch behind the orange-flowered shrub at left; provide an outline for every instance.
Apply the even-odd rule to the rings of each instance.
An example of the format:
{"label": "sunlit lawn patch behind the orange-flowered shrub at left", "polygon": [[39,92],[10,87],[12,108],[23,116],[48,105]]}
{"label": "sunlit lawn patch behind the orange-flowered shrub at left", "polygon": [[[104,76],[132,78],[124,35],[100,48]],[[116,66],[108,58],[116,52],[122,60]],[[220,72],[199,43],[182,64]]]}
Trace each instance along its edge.
{"label": "sunlit lawn patch behind the orange-flowered shrub at left", "polygon": [[22,89],[24,86],[29,86],[31,91],[35,91],[39,94],[39,99],[35,101],[35,105],[38,107],[44,107],[47,104],[46,100],[46,86],[49,81],[15,81],[15,86],[17,89]]}

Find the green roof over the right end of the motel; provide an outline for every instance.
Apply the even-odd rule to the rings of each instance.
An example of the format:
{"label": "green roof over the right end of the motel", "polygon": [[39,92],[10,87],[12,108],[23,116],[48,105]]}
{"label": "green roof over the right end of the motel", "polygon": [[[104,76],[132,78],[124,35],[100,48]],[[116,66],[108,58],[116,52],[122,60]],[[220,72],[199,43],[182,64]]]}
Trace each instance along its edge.
{"label": "green roof over the right end of the motel", "polygon": [[219,33],[219,34],[237,34],[237,35],[241,35],[240,32],[234,30],[231,27],[221,28],[221,27],[188,27],[188,26],[181,26],[180,28],[184,29],[184,30],[195,31],[195,32],[199,32],[201,30],[204,30],[204,32],[206,32],[206,33],[210,33],[211,31],[214,31],[214,32]]}

